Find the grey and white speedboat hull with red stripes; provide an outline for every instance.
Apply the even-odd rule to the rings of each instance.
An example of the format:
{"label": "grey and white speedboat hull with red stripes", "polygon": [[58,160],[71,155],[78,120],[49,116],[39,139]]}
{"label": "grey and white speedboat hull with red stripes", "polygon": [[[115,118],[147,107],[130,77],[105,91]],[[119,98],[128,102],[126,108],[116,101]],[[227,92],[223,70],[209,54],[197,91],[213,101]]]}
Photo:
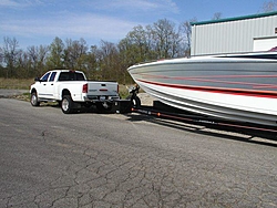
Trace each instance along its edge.
{"label": "grey and white speedboat hull with red stripes", "polygon": [[132,65],[133,80],[170,106],[277,126],[277,52],[219,54]]}

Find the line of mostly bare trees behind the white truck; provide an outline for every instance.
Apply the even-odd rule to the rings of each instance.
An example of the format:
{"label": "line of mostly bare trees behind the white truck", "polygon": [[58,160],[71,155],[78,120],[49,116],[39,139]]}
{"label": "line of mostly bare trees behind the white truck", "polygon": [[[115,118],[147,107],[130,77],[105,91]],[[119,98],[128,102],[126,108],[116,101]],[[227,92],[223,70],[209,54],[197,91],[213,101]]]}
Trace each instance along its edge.
{"label": "line of mostly bare trees behind the white truck", "polygon": [[55,38],[50,45],[19,49],[16,38],[3,38],[0,48],[0,76],[27,79],[41,76],[51,69],[85,72],[90,80],[116,80],[131,83],[126,69],[135,63],[189,55],[191,25],[176,27],[163,19],[135,27],[119,43],[101,41],[88,45],[84,39],[65,41]]}

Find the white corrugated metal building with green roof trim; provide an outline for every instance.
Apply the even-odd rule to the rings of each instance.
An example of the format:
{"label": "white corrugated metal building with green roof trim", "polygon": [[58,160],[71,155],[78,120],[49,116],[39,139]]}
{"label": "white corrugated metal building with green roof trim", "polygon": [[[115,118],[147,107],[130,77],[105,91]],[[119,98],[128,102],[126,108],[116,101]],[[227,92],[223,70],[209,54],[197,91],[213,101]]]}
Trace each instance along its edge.
{"label": "white corrugated metal building with green roof trim", "polygon": [[191,24],[191,55],[268,51],[277,46],[277,11]]}

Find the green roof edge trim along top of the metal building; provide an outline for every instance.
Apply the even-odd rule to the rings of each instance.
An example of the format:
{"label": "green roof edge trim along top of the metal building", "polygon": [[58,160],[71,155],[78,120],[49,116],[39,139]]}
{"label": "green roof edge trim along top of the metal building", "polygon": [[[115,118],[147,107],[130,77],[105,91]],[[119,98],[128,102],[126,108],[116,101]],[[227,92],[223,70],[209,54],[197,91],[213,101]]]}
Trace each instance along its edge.
{"label": "green roof edge trim along top of the metal building", "polygon": [[219,20],[191,22],[191,25],[201,25],[201,24],[212,24],[212,23],[247,20],[247,19],[255,19],[255,18],[264,18],[264,17],[269,17],[269,15],[277,15],[277,11],[267,12],[267,13],[257,13],[257,14],[252,14],[252,15],[242,15],[242,17],[236,17],[236,18],[225,18],[225,19],[219,19]]}

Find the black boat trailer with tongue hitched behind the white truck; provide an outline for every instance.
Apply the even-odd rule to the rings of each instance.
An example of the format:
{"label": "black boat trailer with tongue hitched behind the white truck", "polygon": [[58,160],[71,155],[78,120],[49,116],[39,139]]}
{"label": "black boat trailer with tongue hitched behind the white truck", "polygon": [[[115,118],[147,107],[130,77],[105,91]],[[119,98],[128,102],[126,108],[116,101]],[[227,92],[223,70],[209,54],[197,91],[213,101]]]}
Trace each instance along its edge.
{"label": "black boat trailer with tongue hitched behind the white truck", "polygon": [[260,136],[277,141],[276,126],[235,122],[230,119],[194,114],[192,112],[186,112],[176,107],[168,106],[160,101],[154,101],[153,106],[141,105],[141,100],[137,96],[138,90],[138,85],[130,89],[130,95],[127,96],[127,98],[120,101],[117,113],[138,113],[157,118],[177,121],[186,124],[201,125],[209,128],[243,133],[250,136]]}

